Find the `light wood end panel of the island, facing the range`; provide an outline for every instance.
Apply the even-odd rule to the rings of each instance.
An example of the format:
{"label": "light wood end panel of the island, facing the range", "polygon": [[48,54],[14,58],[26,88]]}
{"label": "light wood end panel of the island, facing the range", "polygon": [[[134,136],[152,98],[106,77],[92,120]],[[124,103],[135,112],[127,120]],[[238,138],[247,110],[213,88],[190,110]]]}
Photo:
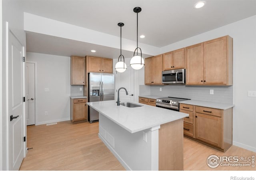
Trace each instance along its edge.
{"label": "light wood end panel of the island, facing the range", "polygon": [[183,119],[162,124],[159,133],[159,170],[183,170]]}

